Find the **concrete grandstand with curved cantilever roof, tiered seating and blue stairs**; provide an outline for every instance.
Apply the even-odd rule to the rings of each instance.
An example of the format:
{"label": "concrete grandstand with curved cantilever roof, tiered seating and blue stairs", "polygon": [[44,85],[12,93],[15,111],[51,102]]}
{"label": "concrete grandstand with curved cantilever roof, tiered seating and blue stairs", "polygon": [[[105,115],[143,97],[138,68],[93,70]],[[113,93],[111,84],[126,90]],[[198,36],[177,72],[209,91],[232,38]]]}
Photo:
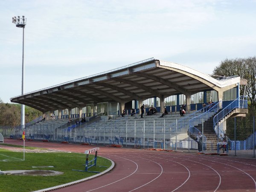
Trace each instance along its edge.
{"label": "concrete grandstand with curved cantilever roof, tiered seating and blue stairs", "polygon": [[[246,84],[239,76],[212,76],[149,58],[15,96],[11,102],[44,113],[25,125],[28,139],[177,150],[196,149],[201,132],[204,150],[213,151],[226,131],[226,119],[248,112],[247,97],[239,91]],[[168,113],[160,118],[164,108]],[[186,112],[181,114],[181,108]]]}

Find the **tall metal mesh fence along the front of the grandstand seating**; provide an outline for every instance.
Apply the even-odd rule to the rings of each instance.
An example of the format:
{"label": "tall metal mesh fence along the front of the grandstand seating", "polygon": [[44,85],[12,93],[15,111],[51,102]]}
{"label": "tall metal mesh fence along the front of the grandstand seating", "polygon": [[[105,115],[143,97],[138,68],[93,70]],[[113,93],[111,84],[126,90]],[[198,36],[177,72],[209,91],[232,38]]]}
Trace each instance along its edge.
{"label": "tall metal mesh fence along the front of the grandstand seating", "polygon": [[[186,113],[189,115],[189,112]],[[124,147],[161,148],[175,151],[197,151],[198,144],[195,137],[188,137],[188,128],[181,128],[182,118],[178,113],[159,116],[113,117],[100,119],[94,123],[80,123],[78,125],[62,122],[65,119],[38,123],[32,128],[26,128],[26,140],[47,140],[52,142],[90,143],[94,145],[121,144]],[[202,121],[203,122],[203,121]],[[230,138],[228,143],[229,155],[255,157],[255,125],[253,117],[228,118],[224,129]],[[213,129],[213,124],[211,128]],[[204,128],[205,126],[205,128]],[[206,130],[207,125],[202,125]],[[206,132],[206,131],[203,131]],[[22,130],[19,128],[0,128],[4,137],[20,138]],[[217,137],[215,135],[215,140]],[[211,140],[203,141],[205,153],[217,152],[217,144]]]}

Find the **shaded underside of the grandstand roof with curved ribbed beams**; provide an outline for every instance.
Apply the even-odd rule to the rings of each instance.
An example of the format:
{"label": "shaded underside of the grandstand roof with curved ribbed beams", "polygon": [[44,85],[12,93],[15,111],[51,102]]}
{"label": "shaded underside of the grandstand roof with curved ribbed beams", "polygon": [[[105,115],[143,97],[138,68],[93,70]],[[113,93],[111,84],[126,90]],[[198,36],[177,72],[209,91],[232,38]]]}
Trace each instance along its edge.
{"label": "shaded underside of the grandstand roof with curved ribbed beams", "polygon": [[209,84],[183,73],[161,68],[159,60],[128,66],[121,70],[67,82],[11,99],[39,111],[81,108],[91,103],[144,100],[194,94],[212,89]]}

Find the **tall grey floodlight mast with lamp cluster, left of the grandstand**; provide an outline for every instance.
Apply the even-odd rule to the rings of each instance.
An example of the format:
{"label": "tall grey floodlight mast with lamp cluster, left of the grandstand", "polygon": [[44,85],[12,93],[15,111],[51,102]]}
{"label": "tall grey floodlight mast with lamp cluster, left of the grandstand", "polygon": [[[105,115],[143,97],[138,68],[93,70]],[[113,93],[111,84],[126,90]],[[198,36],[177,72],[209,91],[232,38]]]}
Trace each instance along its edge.
{"label": "tall grey floodlight mast with lamp cluster, left of the grandstand", "polygon": [[[26,25],[25,16],[12,17],[12,23],[15,23],[17,27],[23,28],[23,41],[22,41],[22,81],[21,81],[21,95],[24,91],[24,29]],[[21,105],[21,120],[20,120],[21,129],[25,128],[25,105]]]}

